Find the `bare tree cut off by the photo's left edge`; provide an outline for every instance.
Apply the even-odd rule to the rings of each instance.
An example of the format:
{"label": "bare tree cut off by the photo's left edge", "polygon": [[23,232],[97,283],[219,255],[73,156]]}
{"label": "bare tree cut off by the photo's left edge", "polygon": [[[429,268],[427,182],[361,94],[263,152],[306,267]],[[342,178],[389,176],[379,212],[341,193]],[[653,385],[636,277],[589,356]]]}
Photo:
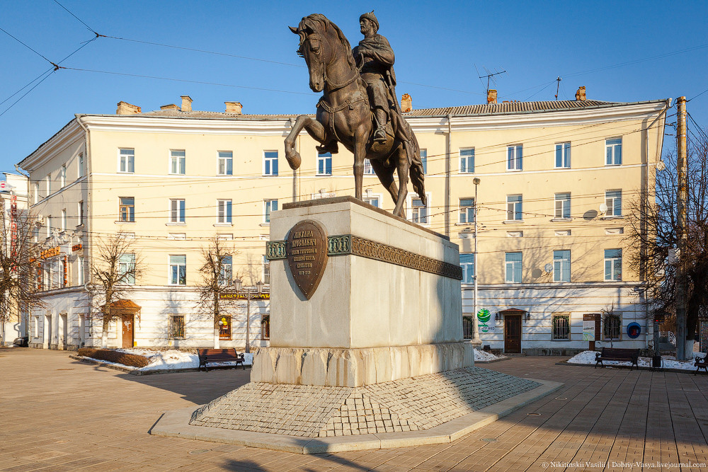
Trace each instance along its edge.
{"label": "bare tree cut off by the photo's left edge", "polygon": [[[14,204],[0,208],[0,329],[5,323],[19,321],[31,305],[42,306],[38,297],[38,266],[33,243],[35,219]],[[0,333],[0,340],[4,339]]]}

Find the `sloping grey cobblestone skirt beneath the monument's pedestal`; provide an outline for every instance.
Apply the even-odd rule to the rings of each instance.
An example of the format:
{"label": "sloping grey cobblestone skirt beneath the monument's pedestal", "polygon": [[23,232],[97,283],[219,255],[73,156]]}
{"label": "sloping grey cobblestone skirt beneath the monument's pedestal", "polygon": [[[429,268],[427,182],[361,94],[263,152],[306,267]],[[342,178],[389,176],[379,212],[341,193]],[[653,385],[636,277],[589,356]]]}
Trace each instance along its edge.
{"label": "sloping grey cobblestone skirt beneath the monument's pedestal", "polygon": [[190,424],[299,437],[420,431],[538,386],[480,367],[357,388],[259,382],[199,408]]}

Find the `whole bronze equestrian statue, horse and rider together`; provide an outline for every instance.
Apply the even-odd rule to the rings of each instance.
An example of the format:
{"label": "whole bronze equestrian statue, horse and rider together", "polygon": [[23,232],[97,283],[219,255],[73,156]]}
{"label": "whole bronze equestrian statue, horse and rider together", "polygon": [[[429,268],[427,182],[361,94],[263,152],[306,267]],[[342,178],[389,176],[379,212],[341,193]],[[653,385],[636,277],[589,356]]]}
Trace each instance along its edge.
{"label": "whole bronze equestrian statue, horse and rider together", "polygon": [[413,189],[426,204],[421,149],[396,98],[393,50],[377,34],[379,22],[373,12],[359,20],[364,39],[353,51],[337,25],[319,13],[290,27],[300,38],[297,54],[307,63],[310,88],[324,94],[317,103],[316,120],[308,115],[295,120],[285,138],[285,159],[290,168],[299,168],[295,138],[302,129],[320,143],[319,152],[335,154],[341,142],[354,154],[355,197],[362,198],[364,159],[369,159],[396,204],[394,214],[403,217],[409,173]]}

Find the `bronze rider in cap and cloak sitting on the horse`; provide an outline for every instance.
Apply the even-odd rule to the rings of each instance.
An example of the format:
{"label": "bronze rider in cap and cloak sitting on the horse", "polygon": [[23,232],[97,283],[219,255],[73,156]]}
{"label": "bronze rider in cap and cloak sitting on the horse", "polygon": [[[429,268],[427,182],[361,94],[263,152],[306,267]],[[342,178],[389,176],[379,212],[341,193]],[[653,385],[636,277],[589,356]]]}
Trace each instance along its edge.
{"label": "bronze rider in cap and cloak sitting on the horse", "polygon": [[[352,50],[355,61],[361,67],[362,79],[366,82],[370,106],[376,120],[375,142],[386,142],[386,124],[389,110],[389,87],[396,85],[394,74],[394,51],[384,36],[379,35],[379,21],[374,12],[359,17],[364,39]],[[396,97],[393,97],[396,100]]]}

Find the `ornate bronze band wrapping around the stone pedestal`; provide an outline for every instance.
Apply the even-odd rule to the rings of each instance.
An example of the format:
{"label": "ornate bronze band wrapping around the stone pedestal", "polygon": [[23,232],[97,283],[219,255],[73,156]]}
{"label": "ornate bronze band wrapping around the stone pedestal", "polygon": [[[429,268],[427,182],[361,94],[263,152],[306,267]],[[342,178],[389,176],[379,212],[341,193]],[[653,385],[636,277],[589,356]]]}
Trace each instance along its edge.
{"label": "ornate bronze band wrapping around the stone pedestal", "polygon": [[[268,260],[285,259],[285,241],[268,241],[265,244],[265,258]],[[327,238],[327,255],[359,255],[362,258],[380,260],[384,263],[401,265],[411,269],[442,275],[450,279],[462,280],[462,267],[442,262],[424,255],[404,251],[387,244],[377,243],[369,239],[351,234],[329,236]]]}

